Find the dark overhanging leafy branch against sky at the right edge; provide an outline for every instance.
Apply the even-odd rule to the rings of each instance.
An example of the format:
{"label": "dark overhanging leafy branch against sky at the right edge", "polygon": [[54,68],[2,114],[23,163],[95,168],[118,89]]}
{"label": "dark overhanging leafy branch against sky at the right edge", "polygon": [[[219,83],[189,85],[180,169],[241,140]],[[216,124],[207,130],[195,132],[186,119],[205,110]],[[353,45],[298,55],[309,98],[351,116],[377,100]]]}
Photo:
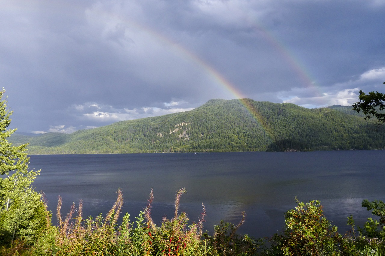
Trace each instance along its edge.
{"label": "dark overhanging leafy branch against sky at the right edge", "polygon": [[[385,85],[385,82],[383,83]],[[365,119],[370,119],[373,116],[378,122],[385,123],[385,94],[378,91],[370,91],[368,94],[360,90],[358,96],[360,101],[353,104],[353,110],[364,113]]]}

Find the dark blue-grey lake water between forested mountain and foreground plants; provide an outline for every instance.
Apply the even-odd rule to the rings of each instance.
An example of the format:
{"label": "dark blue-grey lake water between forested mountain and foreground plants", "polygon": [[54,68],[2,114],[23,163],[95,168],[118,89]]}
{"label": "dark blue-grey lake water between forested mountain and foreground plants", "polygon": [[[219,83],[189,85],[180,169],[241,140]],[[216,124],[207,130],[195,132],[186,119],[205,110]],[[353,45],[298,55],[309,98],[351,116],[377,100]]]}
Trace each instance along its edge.
{"label": "dark blue-grey lake water between forested mountain and foreground plants", "polygon": [[347,216],[362,225],[372,214],[363,199],[385,200],[385,151],[315,151],[296,153],[164,153],[105,155],[32,155],[30,168],[42,169],[34,181],[56,216],[57,196],[62,215],[83,199],[85,216],[107,213],[118,188],[123,213],[135,220],[154,189],[152,216],[173,216],[176,191],[186,188],[181,211],[198,221],[203,203],[204,228],[213,231],[221,219],[238,223],[240,233],[271,236],[284,226],[284,214],[300,201],[318,199],[325,216],[345,232]]}

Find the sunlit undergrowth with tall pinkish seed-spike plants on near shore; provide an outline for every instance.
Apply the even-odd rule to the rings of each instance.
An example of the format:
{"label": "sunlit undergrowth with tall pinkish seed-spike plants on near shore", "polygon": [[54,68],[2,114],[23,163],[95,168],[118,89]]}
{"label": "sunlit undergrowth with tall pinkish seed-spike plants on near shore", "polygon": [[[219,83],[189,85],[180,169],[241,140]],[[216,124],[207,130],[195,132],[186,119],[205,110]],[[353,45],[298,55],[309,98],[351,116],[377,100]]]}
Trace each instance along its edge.
{"label": "sunlit undergrowth with tall pinkish seed-spike plants on near shore", "polygon": [[[198,223],[187,226],[186,213],[179,213],[179,201],[185,189],[177,191],[174,217],[163,218],[157,225],[151,218],[151,204],[154,198],[151,190],[146,209],[131,222],[129,214],[123,216],[122,224],[117,225],[123,204],[121,190],[117,191],[117,200],[105,218],[100,214],[95,219],[82,217],[82,202],[76,209],[75,204],[65,216],[60,210],[62,199],[57,207],[57,226],[50,226],[32,246],[26,246],[22,240],[3,246],[3,255],[164,255],[164,256],[199,256],[199,255],[252,255],[256,250],[254,241],[247,235],[236,234],[241,223],[234,226],[223,223],[215,227],[213,236],[204,234],[203,222],[206,210]],[[77,216],[72,217],[77,211]],[[225,242],[225,243],[224,243]]]}

